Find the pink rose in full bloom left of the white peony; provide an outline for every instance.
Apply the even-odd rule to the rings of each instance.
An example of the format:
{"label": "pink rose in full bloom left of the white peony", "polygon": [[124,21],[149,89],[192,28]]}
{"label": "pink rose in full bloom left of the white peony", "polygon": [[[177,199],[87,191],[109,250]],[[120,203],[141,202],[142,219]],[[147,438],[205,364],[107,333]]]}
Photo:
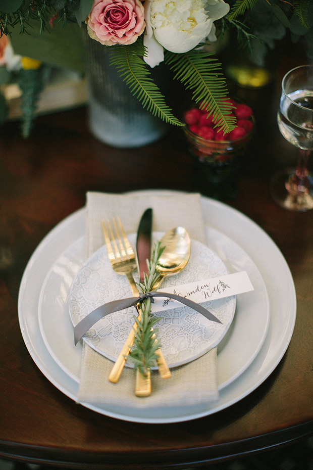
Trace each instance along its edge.
{"label": "pink rose in full bloom left of the white peony", "polygon": [[145,28],[143,6],[139,0],[94,0],[86,23],[101,44],[132,44]]}

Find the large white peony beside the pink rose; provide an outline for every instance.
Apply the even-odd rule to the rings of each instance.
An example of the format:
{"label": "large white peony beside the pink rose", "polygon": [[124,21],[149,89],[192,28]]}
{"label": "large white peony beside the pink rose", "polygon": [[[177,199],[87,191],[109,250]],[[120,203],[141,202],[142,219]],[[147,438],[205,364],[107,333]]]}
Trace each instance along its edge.
{"label": "large white peony beside the pink rose", "polygon": [[223,0],[145,0],[144,10],[145,61],[154,67],[163,60],[163,48],[180,54],[207,36],[216,40],[213,22],[229,12],[229,5]]}

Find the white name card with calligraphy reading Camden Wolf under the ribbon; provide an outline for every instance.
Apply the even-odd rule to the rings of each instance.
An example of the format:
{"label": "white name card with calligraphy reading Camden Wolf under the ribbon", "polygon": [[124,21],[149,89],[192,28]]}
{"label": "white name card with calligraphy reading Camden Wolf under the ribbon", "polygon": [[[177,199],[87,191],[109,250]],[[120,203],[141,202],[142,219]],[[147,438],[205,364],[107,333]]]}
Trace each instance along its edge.
{"label": "white name card with calligraphy reading Camden Wolf under the ribbon", "polygon": [[[212,279],[204,279],[194,283],[181,286],[166,287],[159,289],[158,292],[168,292],[186,297],[194,302],[210,302],[212,300],[223,299],[237,294],[253,291],[253,286],[246,271],[225,274]],[[160,312],[176,307],[182,304],[170,298],[155,298],[151,304],[152,312]]]}

